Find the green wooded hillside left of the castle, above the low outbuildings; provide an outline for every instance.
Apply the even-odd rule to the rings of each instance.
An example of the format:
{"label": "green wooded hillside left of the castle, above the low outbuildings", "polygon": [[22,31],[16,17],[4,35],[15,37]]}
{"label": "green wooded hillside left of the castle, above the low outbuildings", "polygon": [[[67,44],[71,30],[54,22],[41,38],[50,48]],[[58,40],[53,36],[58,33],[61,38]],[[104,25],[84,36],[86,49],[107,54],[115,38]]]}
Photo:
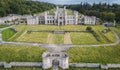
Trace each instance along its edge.
{"label": "green wooded hillside left of the castle, above the low outbuildings", "polygon": [[8,14],[33,14],[54,8],[54,4],[32,0],[0,0],[0,17]]}

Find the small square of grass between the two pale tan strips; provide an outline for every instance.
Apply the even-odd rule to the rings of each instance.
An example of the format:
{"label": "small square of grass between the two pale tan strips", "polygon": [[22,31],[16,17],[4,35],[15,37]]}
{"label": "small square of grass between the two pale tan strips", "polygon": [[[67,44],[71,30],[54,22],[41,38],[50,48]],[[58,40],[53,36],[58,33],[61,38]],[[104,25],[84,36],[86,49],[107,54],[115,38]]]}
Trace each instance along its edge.
{"label": "small square of grass between the two pale tan strips", "polygon": [[64,34],[54,34],[53,35],[53,43],[63,44],[64,43]]}

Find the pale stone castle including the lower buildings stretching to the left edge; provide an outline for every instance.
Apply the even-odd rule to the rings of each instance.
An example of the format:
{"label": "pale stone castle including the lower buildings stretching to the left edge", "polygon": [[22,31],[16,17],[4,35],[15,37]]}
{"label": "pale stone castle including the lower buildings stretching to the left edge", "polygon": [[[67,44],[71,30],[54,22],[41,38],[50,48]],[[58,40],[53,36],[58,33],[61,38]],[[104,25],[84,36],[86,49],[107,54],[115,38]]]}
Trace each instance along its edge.
{"label": "pale stone castle including the lower buildings stretching to the left edge", "polygon": [[[77,24],[96,24],[96,17],[92,16],[84,16],[79,15],[77,11],[73,11],[72,13],[68,12],[69,10],[64,8],[57,8],[50,13],[50,11],[45,11],[44,14],[37,15],[12,15],[0,18],[0,23],[9,23],[14,20],[21,20],[22,18],[26,19],[23,24],[52,24],[52,25],[77,25]],[[16,24],[14,22],[14,24]],[[22,24],[22,23],[17,23]]]}

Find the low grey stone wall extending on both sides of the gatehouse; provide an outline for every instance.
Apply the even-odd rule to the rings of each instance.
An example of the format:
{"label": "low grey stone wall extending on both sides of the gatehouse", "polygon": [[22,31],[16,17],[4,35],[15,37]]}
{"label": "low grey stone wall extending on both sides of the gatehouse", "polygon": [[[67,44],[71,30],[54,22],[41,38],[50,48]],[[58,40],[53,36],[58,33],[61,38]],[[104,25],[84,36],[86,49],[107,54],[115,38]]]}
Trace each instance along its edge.
{"label": "low grey stone wall extending on both sides of the gatehouse", "polygon": [[[42,62],[0,62],[0,67],[11,68],[11,67],[42,67]],[[70,67],[89,67],[89,68],[120,68],[120,64],[100,64],[100,63],[69,63]]]}

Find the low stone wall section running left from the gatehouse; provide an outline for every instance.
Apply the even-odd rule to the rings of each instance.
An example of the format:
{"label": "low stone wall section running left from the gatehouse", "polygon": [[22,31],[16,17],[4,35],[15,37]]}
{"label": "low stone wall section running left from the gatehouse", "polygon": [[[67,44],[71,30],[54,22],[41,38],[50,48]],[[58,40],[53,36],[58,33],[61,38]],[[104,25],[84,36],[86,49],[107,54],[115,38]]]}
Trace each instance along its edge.
{"label": "low stone wall section running left from the gatehouse", "polygon": [[41,67],[42,66],[42,62],[10,62],[10,63],[6,63],[6,62],[0,62],[0,66],[3,66],[4,68],[11,68],[12,66],[23,66],[23,67]]}

